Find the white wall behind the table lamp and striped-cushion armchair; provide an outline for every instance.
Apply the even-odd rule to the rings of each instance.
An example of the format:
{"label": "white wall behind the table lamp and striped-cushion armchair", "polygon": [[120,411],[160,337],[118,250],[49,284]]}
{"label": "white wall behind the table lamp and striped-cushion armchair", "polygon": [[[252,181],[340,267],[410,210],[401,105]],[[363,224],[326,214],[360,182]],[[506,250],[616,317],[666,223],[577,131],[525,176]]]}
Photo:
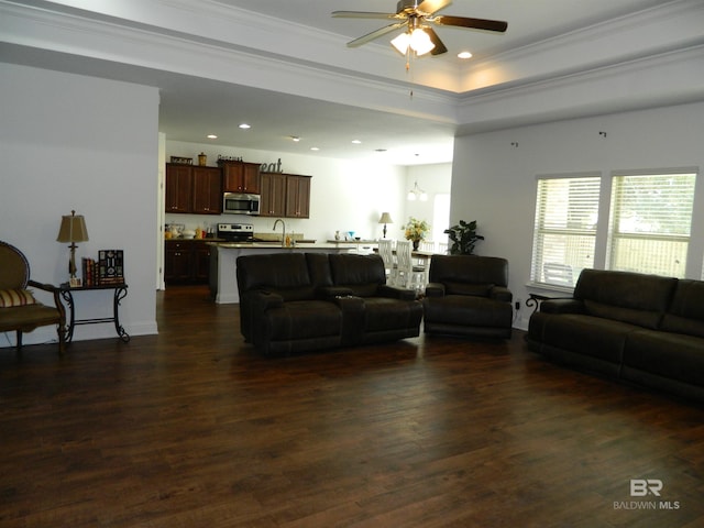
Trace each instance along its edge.
{"label": "white wall behind the table lamp and striped-cushion armchair", "polygon": [[[0,64],[0,239],[24,252],[34,279],[66,282],[69,251],[56,235],[75,209],[90,238],[77,264],[124,250],[121,322],[132,336],[155,333],[157,90]],[[107,292],[77,294],[76,302],[79,318],[111,315]],[[92,338],[116,338],[114,327],[77,327],[75,340]],[[55,339],[44,328],[24,342]],[[0,340],[13,344],[14,334]]]}

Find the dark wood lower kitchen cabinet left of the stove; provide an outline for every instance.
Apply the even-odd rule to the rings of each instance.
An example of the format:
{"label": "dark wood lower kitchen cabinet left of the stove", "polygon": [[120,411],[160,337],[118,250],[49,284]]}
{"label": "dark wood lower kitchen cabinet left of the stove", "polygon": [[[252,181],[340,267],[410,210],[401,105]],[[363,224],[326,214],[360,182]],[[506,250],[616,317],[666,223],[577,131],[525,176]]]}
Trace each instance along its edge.
{"label": "dark wood lower kitchen cabinet left of the stove", "polygon": [[208,284],[210,245],[202,240],[166,240],[164,282]]}

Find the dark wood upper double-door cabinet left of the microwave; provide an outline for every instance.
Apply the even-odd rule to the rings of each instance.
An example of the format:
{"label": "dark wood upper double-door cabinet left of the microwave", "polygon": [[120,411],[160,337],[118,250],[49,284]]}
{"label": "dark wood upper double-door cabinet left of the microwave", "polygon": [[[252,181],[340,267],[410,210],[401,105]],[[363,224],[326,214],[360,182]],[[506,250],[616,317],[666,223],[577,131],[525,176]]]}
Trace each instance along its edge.
{"label": "dark wood upper double-door cabinet left of the microwave", "polygon": [[166,164],[166,212],[220,215],[222,173],[218,167]]}

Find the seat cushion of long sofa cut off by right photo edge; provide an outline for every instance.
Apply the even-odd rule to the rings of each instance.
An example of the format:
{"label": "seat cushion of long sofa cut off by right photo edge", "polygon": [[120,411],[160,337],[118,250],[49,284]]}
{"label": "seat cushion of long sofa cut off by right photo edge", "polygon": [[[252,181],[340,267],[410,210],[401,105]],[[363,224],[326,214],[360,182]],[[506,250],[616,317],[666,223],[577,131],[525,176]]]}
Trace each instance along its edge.
{"label": "seat cushion of long sofa cut off by right photo edge", "polygon": [[680,333],[632,332],[626,342],[624,367],[704,386],[704,342]]}

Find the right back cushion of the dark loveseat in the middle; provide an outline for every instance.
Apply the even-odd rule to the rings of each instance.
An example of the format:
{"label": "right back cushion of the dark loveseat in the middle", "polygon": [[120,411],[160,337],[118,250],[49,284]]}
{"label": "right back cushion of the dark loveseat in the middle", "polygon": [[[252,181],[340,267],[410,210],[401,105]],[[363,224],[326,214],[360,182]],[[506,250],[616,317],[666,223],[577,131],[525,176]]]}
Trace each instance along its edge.
{"label": "right back cushion of the dark loveseat in the middle", "polygon": [[386,284],[384,261],[380,255],[340,253],[328,255],[334,286],[350,288],[354,295],[371,297]]}

